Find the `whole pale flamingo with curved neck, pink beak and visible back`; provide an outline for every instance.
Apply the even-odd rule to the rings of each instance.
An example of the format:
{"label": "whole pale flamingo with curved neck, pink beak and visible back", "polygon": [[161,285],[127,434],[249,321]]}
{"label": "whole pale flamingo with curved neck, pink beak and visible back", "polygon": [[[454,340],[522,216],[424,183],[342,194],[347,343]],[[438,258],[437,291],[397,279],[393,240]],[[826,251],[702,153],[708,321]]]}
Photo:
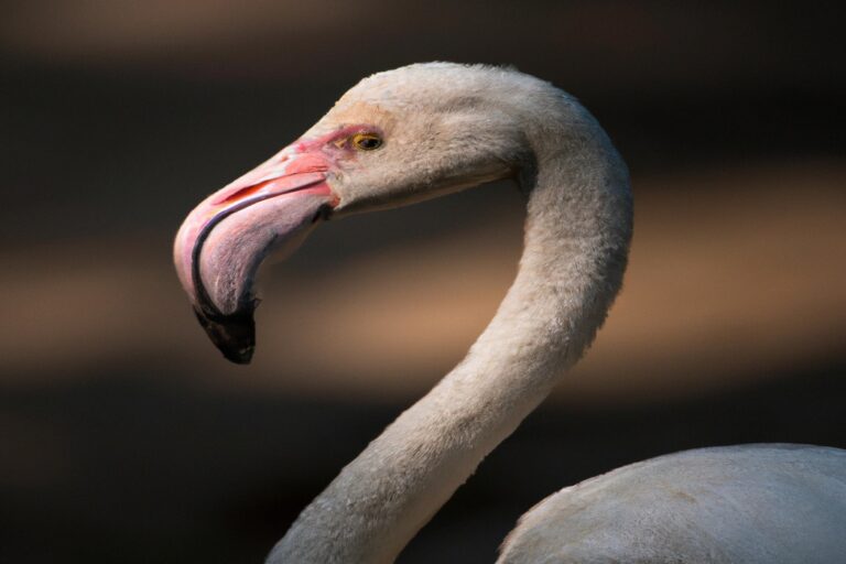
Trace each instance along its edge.
{"label": "whole pale flamingo with curved neck, pink beak and visible back", "polygon": [[[379,73],[185,219],[180,280],[226,358],[249,362],[253,281],[319,223],[497,178],[525,194],[512,286],[458,364],[300,514],[268,563],[390,563],[589,346],[622,282],[627,167],[572,96],[514,69]],[[524,514],[499,563],[846,561],[846,452],[703,448],[565,488]]]}

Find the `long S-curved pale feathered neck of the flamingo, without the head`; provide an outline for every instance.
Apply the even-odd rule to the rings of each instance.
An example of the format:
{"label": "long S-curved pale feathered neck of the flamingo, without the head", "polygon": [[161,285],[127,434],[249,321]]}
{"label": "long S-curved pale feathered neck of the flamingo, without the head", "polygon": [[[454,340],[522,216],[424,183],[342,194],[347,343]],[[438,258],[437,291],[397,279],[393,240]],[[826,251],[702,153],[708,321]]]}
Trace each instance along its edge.
{"label": "long S-curved pale feathered neck of the flamingo, without the head", "polygon": [[301,513],[268,563],[393,562],[593,340],[621,283],[631,199],[604,131],[567,108],[566,132],[527,134],[524,251],[496,316]]}

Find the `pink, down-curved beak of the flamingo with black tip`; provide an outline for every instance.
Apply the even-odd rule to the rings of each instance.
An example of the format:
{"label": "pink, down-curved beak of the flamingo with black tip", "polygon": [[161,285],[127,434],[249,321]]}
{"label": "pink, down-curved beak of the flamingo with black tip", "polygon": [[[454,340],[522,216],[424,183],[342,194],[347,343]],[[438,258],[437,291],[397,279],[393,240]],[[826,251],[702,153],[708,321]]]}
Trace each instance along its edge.
{"label": "pink, down-curved beak of the flamingo with black tip", "polygon": [[272,251],[293,252],[338,204],[330,162],[303,144],[283,149],[188,214],[174,262],[194,312],[226,358],[248,364],[256,346],[253,284]]}

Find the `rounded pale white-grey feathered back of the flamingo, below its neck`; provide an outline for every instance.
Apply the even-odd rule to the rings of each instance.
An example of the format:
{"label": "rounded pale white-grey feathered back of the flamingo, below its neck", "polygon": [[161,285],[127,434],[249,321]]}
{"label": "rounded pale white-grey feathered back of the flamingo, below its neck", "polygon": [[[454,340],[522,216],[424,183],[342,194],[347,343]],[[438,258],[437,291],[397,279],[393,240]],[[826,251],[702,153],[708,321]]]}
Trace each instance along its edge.
{"label": "rounded pale white-grey feathered back of the flamingo, below its neck", "polygon": [[520,519],[498,563],[846,562],[844,507],[844,451],[686,451],[550,496]]}

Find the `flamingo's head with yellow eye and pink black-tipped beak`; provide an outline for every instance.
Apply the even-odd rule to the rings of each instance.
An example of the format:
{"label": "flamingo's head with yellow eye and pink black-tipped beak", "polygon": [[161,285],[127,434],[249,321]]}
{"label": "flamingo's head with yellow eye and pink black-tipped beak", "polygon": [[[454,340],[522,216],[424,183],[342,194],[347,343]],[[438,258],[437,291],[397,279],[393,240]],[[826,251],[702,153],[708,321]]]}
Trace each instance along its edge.
{"label": "flamingo's head with yellow eye and pink black-tipped beak", "polygon": [[292,252],[329,218],[427,199],[519,167],[520,120],[503,108],[514,94],[492,89],[490,75],[437,63],[366,78],[300,139],[188,214],[176,235],[176,271],[226,358],[252,357],[253,282],[271,252]]}

